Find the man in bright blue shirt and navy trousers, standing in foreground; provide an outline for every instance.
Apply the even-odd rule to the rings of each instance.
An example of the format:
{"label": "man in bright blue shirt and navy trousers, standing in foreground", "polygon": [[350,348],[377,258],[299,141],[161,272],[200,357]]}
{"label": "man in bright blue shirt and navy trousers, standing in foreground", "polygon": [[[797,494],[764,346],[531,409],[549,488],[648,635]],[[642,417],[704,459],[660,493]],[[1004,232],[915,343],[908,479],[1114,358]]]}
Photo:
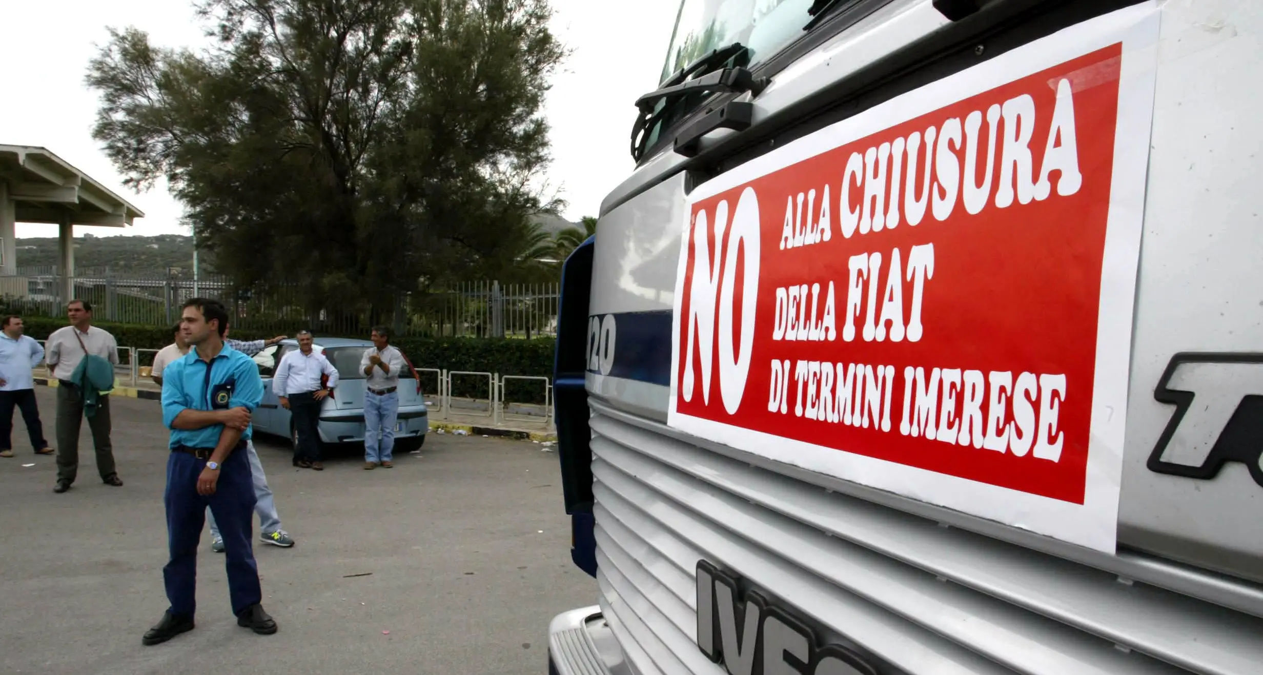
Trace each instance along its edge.
{"label": "man in bright blue shirt and navy trousers, standing in foreground", "polygon": [[181,335],[192,348],[163,372],[162,416],[171,429],[163,496],[171,561],[163,578],[171,608],[145,633],[145,645],[193,629],[197,544],[207,507],[224,536],[237,626],[260,635],[277,632],[277,622],[259,604],[263,590],[250,541],[254,480],[245,451],[263,380],[254,360],[224,344],[227,325],[227,311],[218,301],[186,302]]}

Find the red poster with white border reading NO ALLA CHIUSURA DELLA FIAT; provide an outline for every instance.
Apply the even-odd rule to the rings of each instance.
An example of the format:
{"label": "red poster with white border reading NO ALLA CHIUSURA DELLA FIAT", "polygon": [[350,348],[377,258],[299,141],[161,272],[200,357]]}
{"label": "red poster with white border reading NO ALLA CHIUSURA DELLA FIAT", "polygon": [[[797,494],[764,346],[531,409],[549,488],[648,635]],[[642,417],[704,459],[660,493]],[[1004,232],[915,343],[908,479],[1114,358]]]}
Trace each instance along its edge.
{"label": "red poster with white border reading NO ALLA CHIUSURA DELLA FIAT", "polygon": [[1113,552],[1154,35],[1105,15],[700,186],[668,423]]}

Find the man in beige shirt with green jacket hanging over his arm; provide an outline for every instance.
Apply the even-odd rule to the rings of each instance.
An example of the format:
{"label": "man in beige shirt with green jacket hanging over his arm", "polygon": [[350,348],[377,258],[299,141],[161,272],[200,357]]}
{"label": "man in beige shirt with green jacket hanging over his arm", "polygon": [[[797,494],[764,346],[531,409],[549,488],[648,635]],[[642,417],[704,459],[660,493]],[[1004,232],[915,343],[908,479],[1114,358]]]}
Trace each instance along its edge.
{"label": "man in beige shirt with green jacket hanging over his arm", "polygon": [[[71,375],[87,354],[119,364],[119,345],[114,335],[92,324],[92,303],[72,300],[66,305],[71,325],[57,329],[44,341],[48,374],[57,378],[57,485],[53,492],[71,489],[78,475],[78,434],[83,425],[83,392]],[[87,420],[96,449],[96,470],[107,485],[121,487],[115,471],[114,446],[110,445],[110,397],[97,398],[96,413]]]}

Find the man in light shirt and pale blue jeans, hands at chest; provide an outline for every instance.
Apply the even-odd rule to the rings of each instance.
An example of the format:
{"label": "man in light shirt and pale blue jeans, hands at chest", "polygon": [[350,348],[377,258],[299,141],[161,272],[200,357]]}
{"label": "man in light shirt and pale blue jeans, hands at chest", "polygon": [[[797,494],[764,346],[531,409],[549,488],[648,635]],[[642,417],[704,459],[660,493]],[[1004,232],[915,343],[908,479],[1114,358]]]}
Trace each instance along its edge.
{"label": "man in light shirt and pale blue jeans, hands at chest", "polygon": [[399,416],[399,372],[403,354],[390,345],[385,326],[374,326],[373,349],[364,351],[360,370],[369,377],[364,392],[364,468],[379,464],[390,469],[394,455],[394,425]]}

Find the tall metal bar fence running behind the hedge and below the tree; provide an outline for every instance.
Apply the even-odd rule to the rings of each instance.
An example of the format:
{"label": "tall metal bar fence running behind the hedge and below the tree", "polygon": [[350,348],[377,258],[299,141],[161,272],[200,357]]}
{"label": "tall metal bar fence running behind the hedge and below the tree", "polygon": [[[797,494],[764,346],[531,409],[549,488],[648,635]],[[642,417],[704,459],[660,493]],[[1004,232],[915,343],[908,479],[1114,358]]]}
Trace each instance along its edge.
{"label": "tall metal bar fence running behind the hedge and below the tree", "polygon": [[[19,268],[0,276],[0,300],[14,311],[64,316],[61,274],[52,267]],[[309,327],[327,334],[362,332],[371,324],[390,325],[414,336],[537,338],[557,334],[557,283],[501,284],[476,281],[426,293],[402,293],[393,307],[371,313],[360,306],[321,306],[303,286],[272,282],[254,287],[227,277],[186,273],[119,276],[109,269],[80,269],[73,297],[93,305],[100,321],[162,326],[173,324],[191,297],[213,297],[234,313],[234,326],[287,331]]]}

